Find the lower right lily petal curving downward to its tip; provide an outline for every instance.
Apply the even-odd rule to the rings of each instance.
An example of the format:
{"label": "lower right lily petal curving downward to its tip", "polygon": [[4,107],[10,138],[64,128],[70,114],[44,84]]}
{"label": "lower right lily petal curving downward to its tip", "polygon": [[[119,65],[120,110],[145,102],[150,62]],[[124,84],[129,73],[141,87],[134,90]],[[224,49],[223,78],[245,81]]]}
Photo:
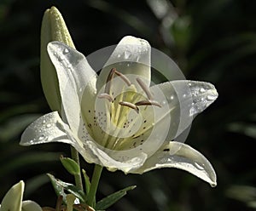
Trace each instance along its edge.
{"label": "lower right lily petal curving downward to its tip", "polygon": [[183,169],[210,185],[216,186],[216,174],[211,163],[199,151],[191,146],[171,141],[163,145],[152,157],[131,173],[143,174],[155,168],[179,168]]}

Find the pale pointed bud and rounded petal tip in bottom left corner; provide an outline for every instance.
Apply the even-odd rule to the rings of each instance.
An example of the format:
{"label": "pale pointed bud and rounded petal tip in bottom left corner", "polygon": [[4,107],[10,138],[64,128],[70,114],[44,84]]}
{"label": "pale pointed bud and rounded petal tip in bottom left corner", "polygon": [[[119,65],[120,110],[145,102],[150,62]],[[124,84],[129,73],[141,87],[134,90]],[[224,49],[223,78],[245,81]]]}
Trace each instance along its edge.
{"label": "pale pointed bud and rounded petal tip in bottom left corner", "polygon": [[3,197],[0,211],[43,211],[36,202],[30,200],[22,202],[24,187],[23,181],[13,185]]}

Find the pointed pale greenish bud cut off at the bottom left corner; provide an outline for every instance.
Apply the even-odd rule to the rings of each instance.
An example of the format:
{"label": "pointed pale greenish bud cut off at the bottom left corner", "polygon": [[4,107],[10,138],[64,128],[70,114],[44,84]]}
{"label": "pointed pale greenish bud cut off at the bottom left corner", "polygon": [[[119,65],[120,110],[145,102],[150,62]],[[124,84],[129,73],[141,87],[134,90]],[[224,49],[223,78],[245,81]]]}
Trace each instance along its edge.
{"label": "pointed pale greenish bud cut off at the bottom left corner", "polygon": [[23,181],[12,186],[11,189],[3,197],[0,211],[15,210],[21,211],[21,202],[23,198],[25,184]]}

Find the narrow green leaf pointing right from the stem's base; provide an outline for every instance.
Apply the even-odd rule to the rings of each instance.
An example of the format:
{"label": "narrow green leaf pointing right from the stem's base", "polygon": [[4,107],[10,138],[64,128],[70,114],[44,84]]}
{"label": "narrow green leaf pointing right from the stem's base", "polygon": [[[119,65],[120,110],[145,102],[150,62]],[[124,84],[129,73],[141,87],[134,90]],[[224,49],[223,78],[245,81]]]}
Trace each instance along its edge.
{"label": "narrow green leaf pointing right from the stem's base", "polygon": [[120,198],[124,197],[127,191],[131,191],[136,188],[136,185],[131,185],[120,191],[114,192],[108,197],[103,198],[101,201],[96,202],[96,210],[106,209],[112,206],[115,202],[119,201]]}

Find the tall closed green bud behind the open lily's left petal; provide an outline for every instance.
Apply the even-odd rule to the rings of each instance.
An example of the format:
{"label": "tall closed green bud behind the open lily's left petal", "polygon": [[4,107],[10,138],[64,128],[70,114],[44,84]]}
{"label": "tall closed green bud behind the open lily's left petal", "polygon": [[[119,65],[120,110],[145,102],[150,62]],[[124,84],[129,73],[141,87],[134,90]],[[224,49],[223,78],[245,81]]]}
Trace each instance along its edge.
{"label": "tall closed green bud behind the open lily's left petal", "polygon": [[61,114],[61,94],[58,78],[55,67],[47,53],[47,44],[52,41],[59,41],[75,48],[65,21],[55,7],[45,11],[42,21],[40,69],[41,83],[49,107],[52,111],[59,111]]}

